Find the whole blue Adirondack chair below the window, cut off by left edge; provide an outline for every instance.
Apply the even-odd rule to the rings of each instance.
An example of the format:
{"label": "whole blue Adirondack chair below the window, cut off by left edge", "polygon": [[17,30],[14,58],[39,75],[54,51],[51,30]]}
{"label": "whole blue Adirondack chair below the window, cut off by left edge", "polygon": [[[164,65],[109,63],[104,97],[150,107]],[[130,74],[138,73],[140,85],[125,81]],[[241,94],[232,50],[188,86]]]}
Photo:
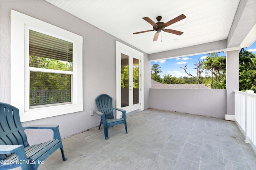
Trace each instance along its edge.
{"label": "whole blue Adirondack chair below the window, cut off by left edge", "polygon": [[[55,150],[60,148],[64,156],[58,125],[22,127],[19,109],[0,103],[0,170],[21,166],[22,170],[36,170]],[[51,129],[53,140],[30,146],[25,129]]]}

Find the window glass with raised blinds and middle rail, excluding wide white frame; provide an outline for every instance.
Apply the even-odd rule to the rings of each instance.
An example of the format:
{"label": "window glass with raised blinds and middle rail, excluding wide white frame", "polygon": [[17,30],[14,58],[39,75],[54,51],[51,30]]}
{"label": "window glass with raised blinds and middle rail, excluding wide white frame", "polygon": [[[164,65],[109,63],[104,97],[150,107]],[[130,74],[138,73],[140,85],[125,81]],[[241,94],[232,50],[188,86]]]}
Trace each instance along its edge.
{"label": "window glass with raised blinds and middle rail, excluding wide white frame", "polygon": [[29,70],[30,108],[71,103],[73,43],[29,30]]}

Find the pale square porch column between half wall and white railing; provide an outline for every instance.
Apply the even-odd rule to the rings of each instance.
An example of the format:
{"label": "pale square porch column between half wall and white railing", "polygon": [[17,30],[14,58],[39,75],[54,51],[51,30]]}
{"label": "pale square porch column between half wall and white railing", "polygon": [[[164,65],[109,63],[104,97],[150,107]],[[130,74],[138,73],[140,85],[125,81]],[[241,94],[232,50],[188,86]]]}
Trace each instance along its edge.
{"label": "pale square porch column between half wall and white railing", "polygon": [[225,49],[227,114],[235,115],[235,94],[239,90],[239,50],[240,47]]}

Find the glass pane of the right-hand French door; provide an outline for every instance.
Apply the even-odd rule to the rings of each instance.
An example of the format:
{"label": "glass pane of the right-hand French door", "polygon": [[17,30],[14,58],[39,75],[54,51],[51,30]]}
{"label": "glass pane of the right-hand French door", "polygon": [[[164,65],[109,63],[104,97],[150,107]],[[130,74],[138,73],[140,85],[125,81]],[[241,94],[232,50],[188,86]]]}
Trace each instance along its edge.
{"label": "glass pane of the right-hand French door", "polygon": [[139,60],[133,58],[133,104],[139,103]]}

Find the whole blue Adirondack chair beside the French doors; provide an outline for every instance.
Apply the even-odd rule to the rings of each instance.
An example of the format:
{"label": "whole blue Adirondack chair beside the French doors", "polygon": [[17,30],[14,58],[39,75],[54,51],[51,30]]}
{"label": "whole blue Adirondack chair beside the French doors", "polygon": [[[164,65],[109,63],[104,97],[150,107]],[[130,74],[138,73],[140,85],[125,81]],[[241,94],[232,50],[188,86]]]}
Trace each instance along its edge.
{"label": "whole blue Adirondack chair beside the French doors", "polygon": [[[96,98],[96,104],[98,107],[98,111],[96,113],[101,116],[100,126],[103,124],[105,139],[108,139],[108,128],[110,126],[124,124],[125,131],[127,132],[126,125],[126,110],[113,108],[112,106],[112,98],[107,94],[102,94]],[[114,119],[113,110],[121,111],[122,118]],[[99,129],[100,129],[99,126]]]}

